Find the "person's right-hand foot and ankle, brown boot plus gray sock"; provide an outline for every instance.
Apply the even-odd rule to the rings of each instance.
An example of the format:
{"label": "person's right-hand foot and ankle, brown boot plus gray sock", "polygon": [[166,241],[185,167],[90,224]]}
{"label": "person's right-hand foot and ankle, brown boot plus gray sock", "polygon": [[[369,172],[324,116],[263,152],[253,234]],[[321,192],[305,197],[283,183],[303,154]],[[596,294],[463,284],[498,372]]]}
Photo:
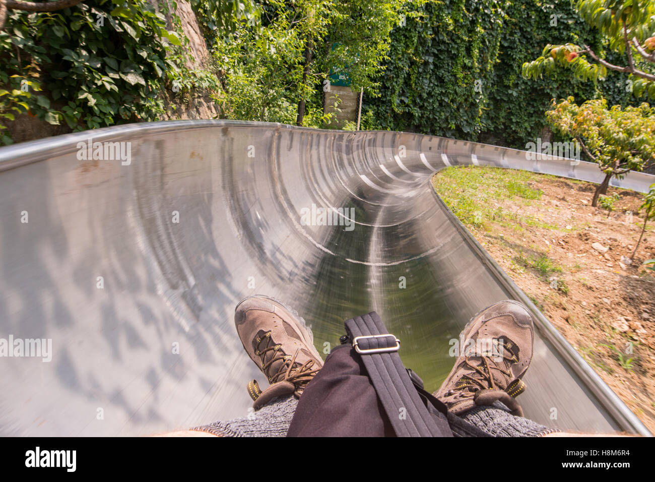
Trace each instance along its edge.
{"label": "person's right-hand foot and ankle, brown boot plus gray sock", "polygon": [[515,397],[532,360],[530,312],[512,300],[477,313],[460,334],[463,353],[434,393],[454,414],[493,437],[539,437],[557,429],[523,418]]}

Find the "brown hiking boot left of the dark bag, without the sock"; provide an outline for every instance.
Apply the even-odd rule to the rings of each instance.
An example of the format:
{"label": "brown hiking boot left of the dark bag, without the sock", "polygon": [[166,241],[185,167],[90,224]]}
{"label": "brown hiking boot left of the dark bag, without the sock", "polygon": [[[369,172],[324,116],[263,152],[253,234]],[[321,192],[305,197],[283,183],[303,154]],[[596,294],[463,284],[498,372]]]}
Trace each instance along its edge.
{"label": "brown hiking boot left of the dark bag, without the sock", "polygon": [[276,397],[291,393],[300,397],[323,367],[312,331],[286,304],[259,294],[248,296],[236,305],[234,323],[250,359],[271,384],[261,391],[256,380],[248,383],[255,410]]}

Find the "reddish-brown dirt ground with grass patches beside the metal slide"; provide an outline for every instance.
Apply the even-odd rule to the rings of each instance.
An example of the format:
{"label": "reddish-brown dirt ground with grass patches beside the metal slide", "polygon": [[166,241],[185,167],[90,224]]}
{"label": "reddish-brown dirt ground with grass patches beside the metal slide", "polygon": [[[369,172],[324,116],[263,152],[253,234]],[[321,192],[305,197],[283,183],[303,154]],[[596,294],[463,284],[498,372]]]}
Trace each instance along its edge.
{"label": "reddish-brown dirt ground with grass patches beside the metal slide", "polygon": [[[466,173],[481,176],[476,186],[442,172],[434,178],[442,199],[655,433],[655,275],[641,267],[655,258],[652,228],[633,262],[626,261],[643,225],[643,195],[610,188],[608,195],[620,198],[609,212],[591,207],[595,185],[587,182],[533,173],[515,180],[512,171],[488,168]],[[476,205],[465,206],[464,197],[485,182],[519,183],[527,191],[487,196],[472,216]]]}

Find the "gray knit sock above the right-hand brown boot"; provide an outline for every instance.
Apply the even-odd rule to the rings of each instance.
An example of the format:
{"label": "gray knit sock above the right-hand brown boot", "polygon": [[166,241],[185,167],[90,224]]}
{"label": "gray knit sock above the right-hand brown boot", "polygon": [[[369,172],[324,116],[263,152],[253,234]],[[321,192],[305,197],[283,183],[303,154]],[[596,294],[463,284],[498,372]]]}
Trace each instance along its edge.
{"label": "gray knit sock above the right-hand brown boot", "polygon": [[464,412],[460,418],[493,437],[541,437],[559,432],[556,428],[540,425],[529,418],[512,415],[504,405],[481,405]]}

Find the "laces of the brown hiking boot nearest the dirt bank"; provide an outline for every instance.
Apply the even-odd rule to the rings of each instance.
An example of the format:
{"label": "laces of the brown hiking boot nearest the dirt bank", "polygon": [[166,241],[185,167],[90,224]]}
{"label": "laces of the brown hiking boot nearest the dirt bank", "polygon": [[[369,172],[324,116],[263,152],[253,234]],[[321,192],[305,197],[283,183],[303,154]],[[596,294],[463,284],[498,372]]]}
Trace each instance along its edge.
{"label": "laces of the brown hiking boot nearest the dirt bank", "polygon": [[[493,341],[496,342],[495,346],[502,346],[503,348],[500,353],[500,355],[502,355],[502,360],[498,361],[509,362],[504,363],[504,369],[500,366],[500,363],[493,363],[493,365],[491,363],[491,356],[498,358],[498,353],[491,356],[487,353],[472,353],[466,355],[466,366],[472,369],[474,373],[462,376],[455,385],[455,388],[449,390],[446,395],[455,395],[455,393],[457,393],[455,398],[468,398],[473,397],[478,390],[505,390],[505,388],[497,386],[491,370],[497,370],[511,379],[513,378],[511,371],[512,363],[517,363],[519,358],[514,354],[508,342],[498,340],[497,338],[494,338]],[[476,364],[476,361],[472,360],[472,357],[479,357],[481,361]]]}

